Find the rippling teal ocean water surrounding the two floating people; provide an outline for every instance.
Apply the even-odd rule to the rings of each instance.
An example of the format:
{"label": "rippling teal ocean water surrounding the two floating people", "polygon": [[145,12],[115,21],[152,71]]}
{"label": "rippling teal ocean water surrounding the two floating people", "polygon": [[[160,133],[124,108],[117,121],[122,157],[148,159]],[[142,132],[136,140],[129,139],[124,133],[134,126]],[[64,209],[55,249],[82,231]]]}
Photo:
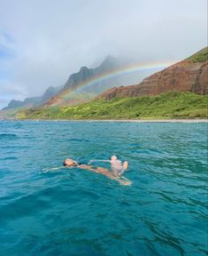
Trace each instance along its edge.
{"label": "rippling teal ocean water surrounding the two floating people", "polygon": [[[50,169],[112,154],[132,186]],[[205,123],[2,121],[0,255],[207,255],[207,176]]]}

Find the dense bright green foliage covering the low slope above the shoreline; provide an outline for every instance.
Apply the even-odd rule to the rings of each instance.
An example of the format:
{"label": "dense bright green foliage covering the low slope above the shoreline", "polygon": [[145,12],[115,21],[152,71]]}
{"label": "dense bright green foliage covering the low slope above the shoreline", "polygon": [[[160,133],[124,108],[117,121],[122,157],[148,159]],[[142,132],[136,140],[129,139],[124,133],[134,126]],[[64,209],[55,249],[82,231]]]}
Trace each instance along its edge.
{"label": "dense bright green foliage covering the low slope above the shoreline", "polygon": [[157,96],[92,100],[78,106],[34,108],[19,119],[168,119],[207,118],[208,96],[166,92]]}

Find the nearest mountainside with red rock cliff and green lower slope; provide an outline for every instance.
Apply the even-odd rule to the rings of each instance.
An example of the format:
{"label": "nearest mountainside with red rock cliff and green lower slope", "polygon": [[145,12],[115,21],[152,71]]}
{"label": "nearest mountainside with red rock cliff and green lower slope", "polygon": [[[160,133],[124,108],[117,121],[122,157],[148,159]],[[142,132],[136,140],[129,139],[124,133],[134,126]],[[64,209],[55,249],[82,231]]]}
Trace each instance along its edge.
{"label": "nearest mountainside with red rock cliff and green lower slope", "polygon": [[[96,99],[76,106],[55,104],[50,105],[50,108],[43,106],[19,111],[16,118],[207,118],[207,65],[206,47],[188,59],[143,79],[140,84],[114,87]],[[89,72],[84,69],[84,73]]]}

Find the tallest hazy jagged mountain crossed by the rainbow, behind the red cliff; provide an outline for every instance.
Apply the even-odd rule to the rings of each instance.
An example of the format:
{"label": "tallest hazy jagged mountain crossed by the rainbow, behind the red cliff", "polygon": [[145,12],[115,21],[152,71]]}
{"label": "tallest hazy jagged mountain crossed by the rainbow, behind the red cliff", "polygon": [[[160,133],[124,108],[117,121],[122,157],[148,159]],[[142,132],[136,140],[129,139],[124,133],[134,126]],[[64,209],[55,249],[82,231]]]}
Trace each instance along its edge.
{"label": "tallest hazy jagged mountain crossed by the rainbow, behind the red cliff", "polygon": [[120,85],[135,84],[142,81],[145,76],[157,70],[135,70],[125,72],[131,60],[117,59],[108,55],[96,68],[83,66],[79,72],[73,73],[67,79],[64,88],[48,102],[45,107],[59,105],[74,105],[95,98],[98,94]]}

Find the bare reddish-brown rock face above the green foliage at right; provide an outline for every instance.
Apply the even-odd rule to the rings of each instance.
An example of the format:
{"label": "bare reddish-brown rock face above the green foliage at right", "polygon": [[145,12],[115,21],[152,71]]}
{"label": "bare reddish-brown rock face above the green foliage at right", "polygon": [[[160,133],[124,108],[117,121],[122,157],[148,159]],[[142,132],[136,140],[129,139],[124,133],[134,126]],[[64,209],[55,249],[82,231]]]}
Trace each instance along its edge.
{"label": "bare reddish-brown rock face above the green foliage at right", "polygon": [[114,87],[96,99],[111,100],[115,97],[157,95],[170,91],[207,94],[208,61],[193,63],[190,60],[183,60],[143,79],[140,84]]}

